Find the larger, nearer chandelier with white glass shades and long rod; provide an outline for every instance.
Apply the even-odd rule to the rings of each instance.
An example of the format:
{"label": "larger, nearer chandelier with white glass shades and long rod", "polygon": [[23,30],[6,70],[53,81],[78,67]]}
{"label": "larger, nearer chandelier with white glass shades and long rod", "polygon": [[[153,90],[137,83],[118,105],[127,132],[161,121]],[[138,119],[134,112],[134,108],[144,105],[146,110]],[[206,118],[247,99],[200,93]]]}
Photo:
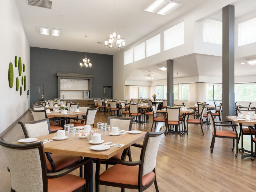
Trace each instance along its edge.
{"label": "larger, nearer chandelier with white glass shades and long rod", "polygon": [[105,41],[105,46],[109,47],[110,49],[113,48],[113,45],[116,45],[117,48],[120,50],[122,47],[125,47],[125,42],[121,40],[121,36],[117,35],[116,33],[116,0],[115,0],[115,30],[113,34],[109,35],[109,40]]}

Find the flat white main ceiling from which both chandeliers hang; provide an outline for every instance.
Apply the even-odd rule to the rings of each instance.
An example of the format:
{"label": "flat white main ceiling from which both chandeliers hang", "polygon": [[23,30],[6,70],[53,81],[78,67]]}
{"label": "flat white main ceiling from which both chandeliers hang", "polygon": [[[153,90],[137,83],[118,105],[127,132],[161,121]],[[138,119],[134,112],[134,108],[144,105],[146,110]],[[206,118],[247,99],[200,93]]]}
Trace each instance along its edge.
{"label": "flat white main ceiling from which both chandeliers hang", "polygon": [[[179,0],[183,5],[164,16],[143,11],[151,0],[116,0],[116,31],[132,44],[165,23],[188,12],[206,0]],[[53,0],[52,9],[29,6],[26,0],[16,0],[20,17],[33,47],[115,54],[103,44],[114,31],[114,0]],[[58,36],[40,35],[38,27],[62,29]]]}

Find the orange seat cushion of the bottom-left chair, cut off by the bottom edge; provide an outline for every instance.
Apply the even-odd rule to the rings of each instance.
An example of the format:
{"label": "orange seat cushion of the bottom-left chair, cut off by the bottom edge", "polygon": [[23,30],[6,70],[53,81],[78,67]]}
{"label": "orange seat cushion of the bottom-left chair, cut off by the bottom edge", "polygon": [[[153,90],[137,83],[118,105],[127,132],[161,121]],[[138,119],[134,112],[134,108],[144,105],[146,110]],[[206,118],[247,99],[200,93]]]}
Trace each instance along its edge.
{"label": "orange seat cushion of the bottom-left chair, cut off by the bottom edge", "polygon": [[55,179],[48,179],[48,192],[69,192],[83,186],[85,179],[67,174]]}

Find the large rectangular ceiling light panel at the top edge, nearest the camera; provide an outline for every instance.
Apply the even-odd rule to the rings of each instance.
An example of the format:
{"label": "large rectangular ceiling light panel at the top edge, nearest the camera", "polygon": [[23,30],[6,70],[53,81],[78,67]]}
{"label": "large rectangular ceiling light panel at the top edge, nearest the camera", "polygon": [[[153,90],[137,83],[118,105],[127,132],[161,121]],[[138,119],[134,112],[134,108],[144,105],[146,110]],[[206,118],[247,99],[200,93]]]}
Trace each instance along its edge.
{"label": "large rectangular ceiling light panel at the top edge, nearest the camera", "polygon": [[175,9],[178,9],[182,3],[172,0],[154,0],[144,8],[144,11],[168,15]]}

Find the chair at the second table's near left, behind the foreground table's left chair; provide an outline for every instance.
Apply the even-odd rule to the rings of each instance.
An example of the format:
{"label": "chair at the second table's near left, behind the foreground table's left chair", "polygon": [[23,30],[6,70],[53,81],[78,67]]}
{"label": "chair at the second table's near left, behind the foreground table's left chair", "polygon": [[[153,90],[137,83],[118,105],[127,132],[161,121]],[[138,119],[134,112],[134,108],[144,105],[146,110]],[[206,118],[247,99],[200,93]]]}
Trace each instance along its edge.
{"label": "chair at the second table's near left, behind the foreground table's left chair", "polygon": [[[29,109],[34,117],[34,121],[38,121],[41,119],[46,119],[47,118],[47,114],[46,114],[46,110],[33,110],[33,109]],[[63,128],[58,126],[60,125],[60,121],[62,121],[64,119],[58,119],[58,120],[54,120],[50,122],[50,130],[52,133],[57,132],[58,130],[62,130]]]}

